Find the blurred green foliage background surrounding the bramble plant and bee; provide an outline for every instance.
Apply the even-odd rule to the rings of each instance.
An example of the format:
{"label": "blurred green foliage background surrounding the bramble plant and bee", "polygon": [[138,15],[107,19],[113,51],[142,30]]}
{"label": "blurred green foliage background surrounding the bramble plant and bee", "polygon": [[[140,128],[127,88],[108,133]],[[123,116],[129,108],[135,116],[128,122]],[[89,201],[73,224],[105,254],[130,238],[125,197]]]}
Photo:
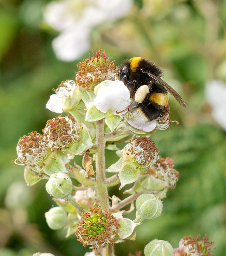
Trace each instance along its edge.
{"label": "blurred green foliage background surrounding the bramble plant and bee", "polygon": [[225,255],[226,132],[213,121],[204,88],[210,79],[226,82],[226,1],[134,0],[126,16],[92,29],[90,50],[73,62],[58,60],[52,50],[58,33],[43,21],[48,2],[0,0],[0,255],[80,256],[88,251],[74,235],[66,240],[66,230],[48,228],[44,212],[54,203],[44,180],[26,187],[24,168],[11,160],[20,136],[42,132],[46,121],[58,115],[45,108],[52,88],[74,80],[76,64],[98,48],[116,65],[133,56],[152,60],[188,103],[182,108],[170,97],[170,117],[180,124],[152,137],[160,154],[173,159],[178,184],[163,199],[162,215],[138,226],[136,242],[117,244],[116,254],[135,254],[154,238],[177,248],[185,235],[207,234],[215,255]]}

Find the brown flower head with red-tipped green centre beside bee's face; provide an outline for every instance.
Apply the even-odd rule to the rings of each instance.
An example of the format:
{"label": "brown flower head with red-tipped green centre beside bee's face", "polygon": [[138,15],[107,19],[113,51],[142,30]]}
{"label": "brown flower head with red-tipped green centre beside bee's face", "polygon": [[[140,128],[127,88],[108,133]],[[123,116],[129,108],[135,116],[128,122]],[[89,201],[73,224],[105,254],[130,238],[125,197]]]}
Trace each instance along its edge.
{"label": "brown flower head with red-tipped green centre beside bee's face", "polygon": [[92,57],[87,58],[80,62],[77,67],[79,68],[76,74],[76,82],[86,90],[94,90],[94,87],[104,80],[114,80],[115,73],[117,72],[114,61],[111,58],[106,58],[106,53],[98,50],[96,55],[92,52]]}

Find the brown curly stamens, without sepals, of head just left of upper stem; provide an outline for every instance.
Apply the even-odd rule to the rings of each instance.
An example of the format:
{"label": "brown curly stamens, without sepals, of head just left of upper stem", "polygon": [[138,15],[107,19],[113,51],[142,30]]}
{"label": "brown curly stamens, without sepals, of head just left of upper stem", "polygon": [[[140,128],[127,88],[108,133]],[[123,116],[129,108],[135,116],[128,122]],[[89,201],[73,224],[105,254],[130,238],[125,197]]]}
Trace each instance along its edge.
{"label": "brown curly stamens, without sepals, of head just left of upper stem", "polygon": [[70,143],[79,142],[79,133],[82,128],[76,124],[72,116],[62,115],[48,120],[46,127],[42,130],[46,145],[51,150],[58,149],[65,151],[69,148]]}

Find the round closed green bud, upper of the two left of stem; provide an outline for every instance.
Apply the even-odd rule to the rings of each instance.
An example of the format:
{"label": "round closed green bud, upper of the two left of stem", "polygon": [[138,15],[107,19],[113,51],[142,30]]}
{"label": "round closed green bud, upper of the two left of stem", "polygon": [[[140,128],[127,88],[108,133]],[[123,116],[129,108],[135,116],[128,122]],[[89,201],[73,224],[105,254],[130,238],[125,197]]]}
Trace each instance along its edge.
{"label": "round closed green bud, upper of the two left of stem", "polygon": [[46,191],[55,198],[63,199],[72,192],[72,181],[63,172],[54,173],[46,183]]}

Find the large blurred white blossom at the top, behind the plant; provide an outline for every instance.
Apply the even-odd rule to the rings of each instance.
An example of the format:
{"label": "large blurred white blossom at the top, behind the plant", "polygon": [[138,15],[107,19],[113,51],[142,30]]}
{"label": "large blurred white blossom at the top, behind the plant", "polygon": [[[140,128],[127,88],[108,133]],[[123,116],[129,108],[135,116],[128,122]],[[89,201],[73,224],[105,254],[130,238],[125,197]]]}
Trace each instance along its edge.
{"label": "large blurred white blossom at the top, behind the plant", "polygon": [[90,48],[90,31],[107,20],[128,13],[132,0],[61,0],[50,2],[44,10],[46,23],[59,31],[53,42],[58,59],[72,61]]}

